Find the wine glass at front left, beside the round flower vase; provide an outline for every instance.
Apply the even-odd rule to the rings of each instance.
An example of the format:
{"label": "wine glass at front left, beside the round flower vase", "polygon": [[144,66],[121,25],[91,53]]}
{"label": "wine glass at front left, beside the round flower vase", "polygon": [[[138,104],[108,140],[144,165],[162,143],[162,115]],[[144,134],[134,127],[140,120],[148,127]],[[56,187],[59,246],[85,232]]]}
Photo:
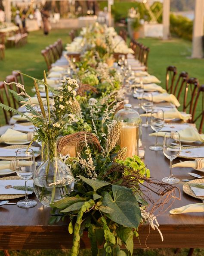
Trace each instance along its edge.
{"label": "wine glass at front left, beside the round flower vase", "polygon": [[37,202],[32,199],[28,199],[28,186],[27,182],[35,171],[35,157],[31,148],[20,148],[16,151],[16,173],[25,180],[25,200],[17,202],[17,206],[21,208],[31,208],[37,205]]}

